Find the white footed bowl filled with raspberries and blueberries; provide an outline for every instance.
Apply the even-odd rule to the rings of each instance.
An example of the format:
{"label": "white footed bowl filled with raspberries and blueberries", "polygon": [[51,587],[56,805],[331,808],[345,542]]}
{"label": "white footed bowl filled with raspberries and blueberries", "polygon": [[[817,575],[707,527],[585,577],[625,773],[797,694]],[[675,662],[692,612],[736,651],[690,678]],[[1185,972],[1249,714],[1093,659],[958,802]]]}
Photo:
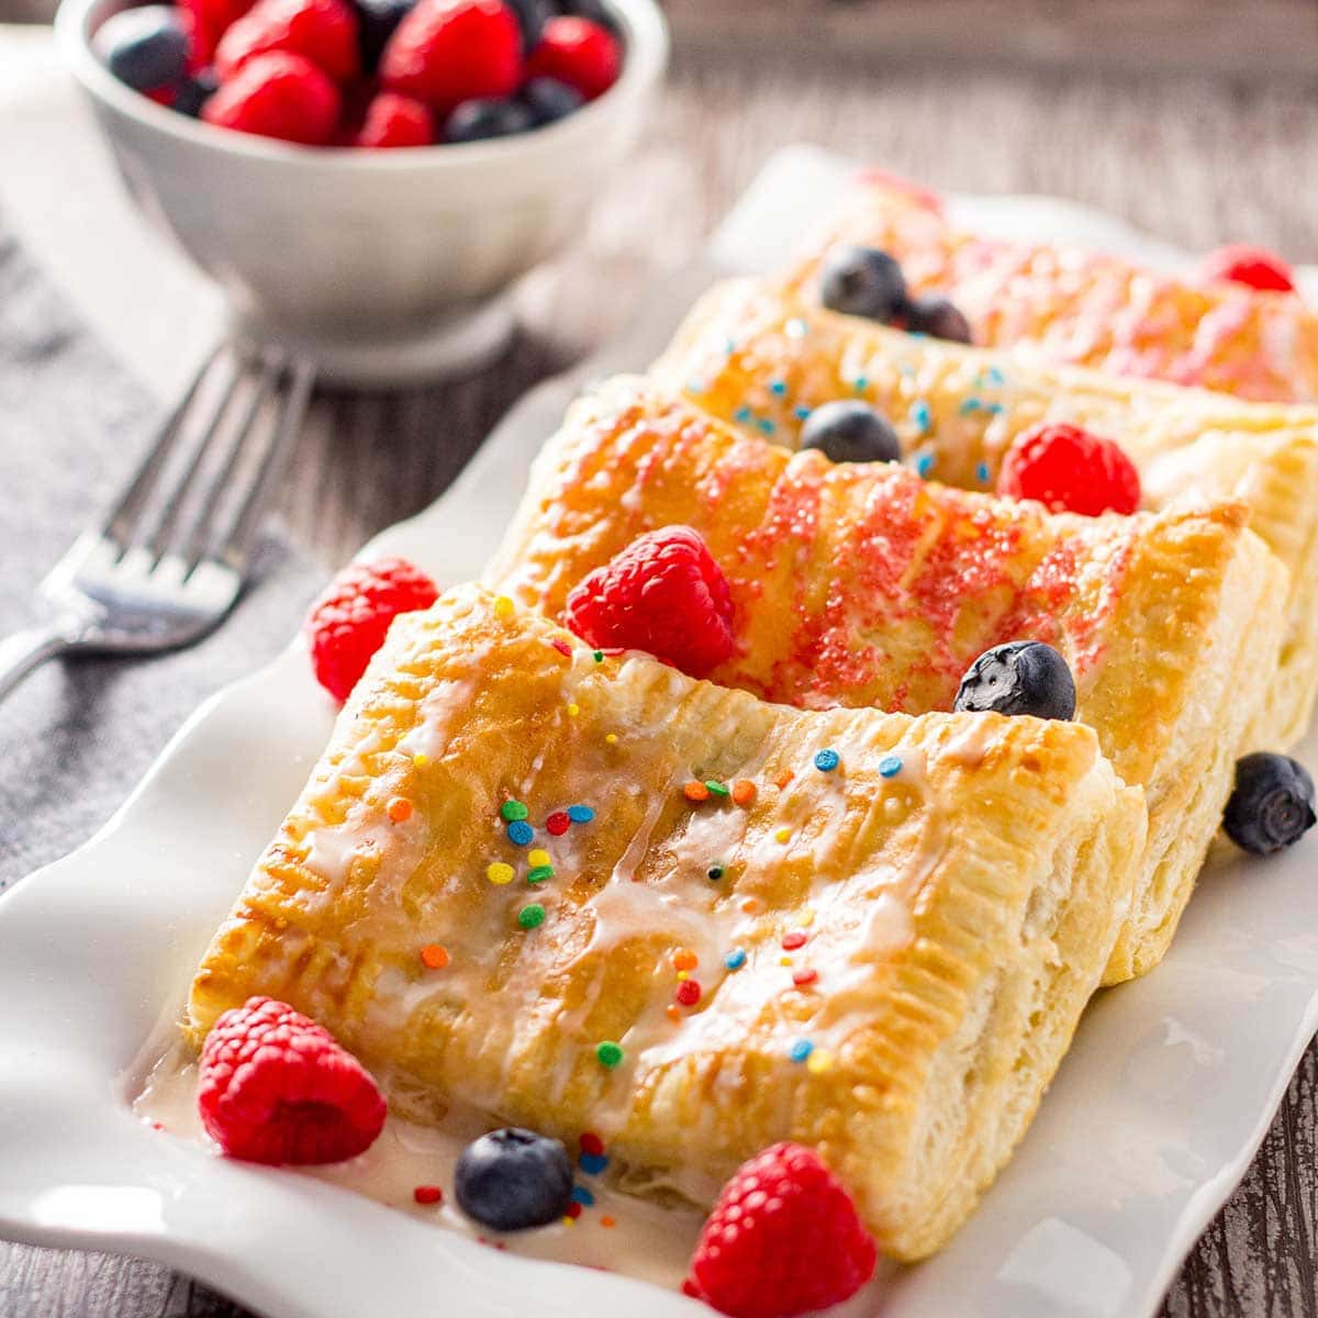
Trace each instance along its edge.
{"label": "white footed bowl filled with raspberries and blueberries", "polygon": [[57,30],[233,332],[373,385],[502,349],[668,54],[655,0],[63,0]]}

